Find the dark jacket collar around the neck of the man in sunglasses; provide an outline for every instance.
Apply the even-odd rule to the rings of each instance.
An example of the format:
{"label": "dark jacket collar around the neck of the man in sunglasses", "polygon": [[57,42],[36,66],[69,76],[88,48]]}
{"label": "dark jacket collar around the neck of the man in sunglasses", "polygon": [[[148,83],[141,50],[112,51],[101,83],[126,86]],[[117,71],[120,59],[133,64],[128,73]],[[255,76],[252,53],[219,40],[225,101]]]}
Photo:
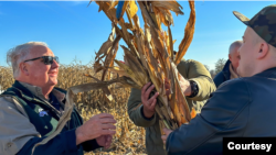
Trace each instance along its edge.
{"label": "dark jacket collar around the neck of the man in sunglasses", "polygon": [[[29,100],[34,100],[35,98],[39,98],[41,100],[47,101],[47,99],[42,93],[42,89],[38,86],[32,86],[30,84],[15,80],[12,87],[21,90],[22,97]],[[56,97],[56,99],[60,102],[62,102],[65,99],[65,95],[56,89],[53,89],[52,93]]]}

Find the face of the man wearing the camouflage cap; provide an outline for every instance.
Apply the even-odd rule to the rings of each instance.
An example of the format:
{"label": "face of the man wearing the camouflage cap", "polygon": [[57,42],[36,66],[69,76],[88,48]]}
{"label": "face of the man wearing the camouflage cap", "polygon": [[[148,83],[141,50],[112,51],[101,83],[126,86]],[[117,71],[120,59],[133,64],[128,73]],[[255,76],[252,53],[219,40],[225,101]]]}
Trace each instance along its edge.
{"label": "face of the man wearing the camouflage cap", "polygon": [[243,44],[238,48],[240,53],[240,62],[237,67],[237,74],[242,77],[251,77],[253,76],[255,68],[255,53],[257,53],[258,48],[256,44],[254,44],[257,34],[247,26],[243,36]]}

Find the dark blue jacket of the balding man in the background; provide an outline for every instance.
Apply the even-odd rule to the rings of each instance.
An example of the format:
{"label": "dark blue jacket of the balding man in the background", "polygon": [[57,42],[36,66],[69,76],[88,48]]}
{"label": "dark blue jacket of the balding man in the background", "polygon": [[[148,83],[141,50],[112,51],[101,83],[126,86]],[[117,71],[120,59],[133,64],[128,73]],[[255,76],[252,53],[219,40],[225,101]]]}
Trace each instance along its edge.
{"label": "dark blue jacket of the balding man in the background", "polygon": [[221,84],[223,84],[224,81],[226,80],[230,80],[230,77],[231,77],[231,73],[230,73],[230,69],[229,69],[229,66],[230,66],[231,62],[227,60],[222,69],[222,71],[220,71],[215,77],[214,77],[214,84],[216,86],[216,88],[219,88],[219,86]]}

